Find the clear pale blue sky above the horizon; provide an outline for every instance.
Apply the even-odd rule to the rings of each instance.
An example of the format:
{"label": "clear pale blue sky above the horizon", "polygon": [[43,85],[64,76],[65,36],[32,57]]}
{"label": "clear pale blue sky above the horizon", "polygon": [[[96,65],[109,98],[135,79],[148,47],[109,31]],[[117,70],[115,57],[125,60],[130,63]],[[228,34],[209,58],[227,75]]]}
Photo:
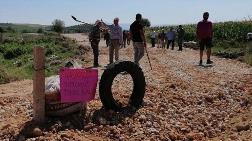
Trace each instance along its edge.
{"label": "clear pale blue sky above the horizon", "polygon": [[119,17],[129,24],[141,13],[151,25],[177,25],[196,23],[205,11],[213,22],[252,19],[252,0],[0,0],[0,23],[51,25],[61,19],[70,26],[78,24],[73,15],[87,23]]}

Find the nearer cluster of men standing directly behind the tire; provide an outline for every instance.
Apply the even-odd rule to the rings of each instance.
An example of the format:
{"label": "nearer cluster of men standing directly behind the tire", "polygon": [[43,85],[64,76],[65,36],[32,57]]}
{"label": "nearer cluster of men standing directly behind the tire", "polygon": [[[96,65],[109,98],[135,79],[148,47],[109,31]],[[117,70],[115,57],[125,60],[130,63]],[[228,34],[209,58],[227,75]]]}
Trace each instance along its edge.
{"label": "nearer cluster of men standing directly behind the tire", "polygon": [[[134,62],[139,64],[139,60],[144,56],[144,47],[146,47],[146,39],[144,36],[144,27],[141,24],[142,15],[137,14],[136,20],[130,26],[130,32],[124,33],[123,36],[122,27],[119,25],[119,18],[114,19],[114,24],[106,25],[104,22],[97,20],[95,26],[89,34],[89,41],[93,49],[94,54],[94,67],[99,67],[99,42],[101,39],[101,32],[105,32],[104,39],[107,46],[109,46],[109,64],[119,60],[119,49],[121,46],[130,44],[130,39],[133,41],[134,46]],[[127,35],[128,34],[128,35]],[[109,65],[108,64],[108,65]]]}

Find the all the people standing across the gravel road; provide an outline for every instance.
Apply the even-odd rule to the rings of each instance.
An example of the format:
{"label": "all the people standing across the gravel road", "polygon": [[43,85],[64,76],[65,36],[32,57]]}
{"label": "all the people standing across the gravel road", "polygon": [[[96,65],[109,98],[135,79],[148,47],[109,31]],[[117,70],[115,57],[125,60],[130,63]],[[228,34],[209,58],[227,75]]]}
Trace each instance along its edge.
{"label": "all the people standing across the gravel road", "polygon": [[[203,20],[197,25],[197,37],[199,39],[200,45],[200,61],[199,65],[202,65],[203,51],[207,49],[207,64],[212,64],[210,60],[211,47],[212,47],[212,37],[213,29],[212,23],[208,21],[209,13],[205,12],[203,14]],[[136,14],[136,20],[130,25],[130,31],[122,31],[119,25],[119,18],[114,19],[114,24],[106,25],[104,22],[97,20],[95,26],[89,34],[89,41],[91,42],[91,47],[94,54],[94,67],[98,67],[98,56],[99,56],[99,42],[101,31],[105,32],[104,39],[106,40],[107,46],[109,46],[109,64],[114,62],[114,58],[117,61],[119,59],[119,49],[120,47],[126,46],[126,40],[130,43],[130,39],[133,41],[134,47],[134,62],[139,65],[139,61],[144,56],[144,49],[146,48],[146,38],[144,35],[144,26],[142,25],[142,15]],[[177,36],[179,51],[182,51],[185,30],[182,25],[179,25],[177,31],[174,28],[170,28],[168,32],[165,33],[162,30],[161,33],[157,34],[155,31],[151,33],[152,46],[155,47],[156,38],[158,39],[158,47],[165,48],[165,43],[167,44],[167,49],[170,44],[171,49],[174,49],[175,39]]]}

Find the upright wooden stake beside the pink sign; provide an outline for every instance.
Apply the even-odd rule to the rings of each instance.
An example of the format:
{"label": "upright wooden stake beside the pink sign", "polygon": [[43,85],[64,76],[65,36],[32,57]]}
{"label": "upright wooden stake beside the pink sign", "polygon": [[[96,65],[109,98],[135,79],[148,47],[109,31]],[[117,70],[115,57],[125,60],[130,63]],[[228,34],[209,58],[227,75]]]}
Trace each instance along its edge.
{"label": "upright wooden stake beside the pink sign", "polygon": [[37,123],[45,121],[45,54],[44,48],[33,47],[33,118]]}

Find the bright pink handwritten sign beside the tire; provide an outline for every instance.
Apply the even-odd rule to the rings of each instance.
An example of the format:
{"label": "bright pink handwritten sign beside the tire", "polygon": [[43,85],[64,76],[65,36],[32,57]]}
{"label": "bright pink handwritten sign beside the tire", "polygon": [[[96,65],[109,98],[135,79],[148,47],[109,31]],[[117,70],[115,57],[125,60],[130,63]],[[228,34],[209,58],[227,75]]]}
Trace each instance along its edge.
{"label": "bright pink handwritten sign beside the tire", "polygon": [[67,103],[91,101],[95,97],[97,81],[97,69],[61,69],[61,102]]}

